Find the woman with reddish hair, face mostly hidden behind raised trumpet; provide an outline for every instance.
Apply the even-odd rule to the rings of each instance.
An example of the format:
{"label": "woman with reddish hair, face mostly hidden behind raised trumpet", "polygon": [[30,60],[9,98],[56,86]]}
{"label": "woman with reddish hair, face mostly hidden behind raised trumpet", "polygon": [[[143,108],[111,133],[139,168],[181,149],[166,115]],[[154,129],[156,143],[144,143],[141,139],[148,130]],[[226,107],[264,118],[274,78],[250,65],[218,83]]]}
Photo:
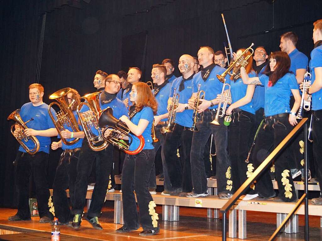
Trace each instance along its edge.
{"label": "woman with reddish hair, face mostly hidden behind raised trumpet", "polygon": [[[245,49],[239,49],[235,57],[240,57]],[[244,57],[251,55],[250,51],[244,53]],[[256,72],[252,69],[252,58],[248,59],[246,74],[248,77],[255,77]],[[237,190],[249,176],[248,167],[251,163],[246,163],[248,151],[251,147],[252,130],[255,122],[255,110],[253,108],[252,97],[255,85],[246,85],[242,79],[231,77],[230,93],[232,104],[227,108],[226,114],[232,116],[232,121],[228,132],[228,150],[231,161],[232,183],[226,189]],[[250,196],[245,199],[255,198],[258,195]]]}

